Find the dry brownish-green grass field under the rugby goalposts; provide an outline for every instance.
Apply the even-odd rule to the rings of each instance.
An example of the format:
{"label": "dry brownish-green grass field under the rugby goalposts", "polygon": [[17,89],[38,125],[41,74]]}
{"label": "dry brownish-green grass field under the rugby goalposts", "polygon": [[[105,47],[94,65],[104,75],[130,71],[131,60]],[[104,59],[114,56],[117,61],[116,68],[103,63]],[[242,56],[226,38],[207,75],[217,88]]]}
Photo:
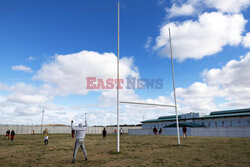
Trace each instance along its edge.
{"label": "dry brownish-green grass field under the rugby goalposts", "polygon": [[0,166],[250,166],[250,138],[189,137],[176,145],[174,136],[121,136],[116,154],[116,136],[105,140],[87,135],[88,161],[78,150],[71,164],[74,140],[50,134],[49,145],[41,135],[16,135],[15,143],[0,140]]}

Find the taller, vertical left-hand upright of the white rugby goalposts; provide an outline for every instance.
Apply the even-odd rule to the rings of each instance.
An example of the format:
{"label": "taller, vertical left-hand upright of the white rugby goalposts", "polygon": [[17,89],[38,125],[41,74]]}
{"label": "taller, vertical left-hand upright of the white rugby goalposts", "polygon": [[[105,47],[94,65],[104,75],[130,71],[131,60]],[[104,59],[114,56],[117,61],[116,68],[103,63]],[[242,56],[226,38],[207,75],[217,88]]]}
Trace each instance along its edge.
{"label": "taller, vertical left-hand upright of the white rugby goalposts", "polygon": [[117,101],[116,101],[116,109],[117,109],[117,152],[120,152],[120,121],[119,121],[119,56],[120,56],[120,50],[119,50],[119,33],[120,33],[120,11],[119,11],[119,0],[118,0],[118,6],[117,6],[117,21],[118,21],[118,26],[117,26]]}

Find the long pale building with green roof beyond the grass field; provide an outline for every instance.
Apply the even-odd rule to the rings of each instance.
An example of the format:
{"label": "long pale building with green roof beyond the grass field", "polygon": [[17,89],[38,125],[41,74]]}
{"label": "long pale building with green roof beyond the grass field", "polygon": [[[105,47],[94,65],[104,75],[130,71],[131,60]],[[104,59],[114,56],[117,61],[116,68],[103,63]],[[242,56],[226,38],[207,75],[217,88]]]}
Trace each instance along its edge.
{"label": "long pale building with green roof beyond the grass field", "polygon": [[[191,136],[250,137],[250,108],[211,112],[200,116],[199,113],[178,116],[180,132],[188,128]],[[129,134],[153,134],[154,126],[163,130],[163,135],[176,135],[176,116],[162,116],[158,119],[142,121],[142,129],[131,130]]]}

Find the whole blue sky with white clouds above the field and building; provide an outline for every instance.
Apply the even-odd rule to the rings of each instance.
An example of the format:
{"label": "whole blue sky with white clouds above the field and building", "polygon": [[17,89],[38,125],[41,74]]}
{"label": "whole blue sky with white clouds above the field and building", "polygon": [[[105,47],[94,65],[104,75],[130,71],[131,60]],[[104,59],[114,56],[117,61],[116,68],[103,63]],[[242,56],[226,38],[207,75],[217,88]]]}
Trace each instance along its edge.
{"label": "whole blue sky with white clouds above the field and building", "polygon": [[[122,90],[124,100],[172,103],[172,31],[180,113],[249,107],[250,2],[120,1],[121,77],[164,80]],[[86,90],[86,77],[115,78],[117,1],[1,1],[1,123],[116,123],[115,90]],[[123,70],[123,71],[122,71]],[[121,123],[173,114],[121,105]]]}

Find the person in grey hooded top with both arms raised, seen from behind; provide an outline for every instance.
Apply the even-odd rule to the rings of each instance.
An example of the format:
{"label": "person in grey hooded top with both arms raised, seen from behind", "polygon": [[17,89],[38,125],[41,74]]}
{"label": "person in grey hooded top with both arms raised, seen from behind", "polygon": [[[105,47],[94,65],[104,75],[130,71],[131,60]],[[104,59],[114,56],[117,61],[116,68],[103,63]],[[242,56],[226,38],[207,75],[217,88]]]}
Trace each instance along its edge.
{"label": "person in grey hooded top with both arms raised, seen from behind", "polygon": [[87,152],[86,152],[86,149],[84,147],[85,133],[86,133],[86,131],[88,129],[87,121],[85,121],[84,126],[83,126],[82,123],[79,123],[78,126],[73,126],[73,120],[72,120],[71,121],[71,129],[73,131],[75,131],[75,134],[76,134],[75,150],[74,150],[74,153],[73,153],[72,163],[75,162],[76,154],[77,154],[77,150],[78,150],[79,146],[80,146],[80,148],[82,149],[82,151],[84,153],[85,161],[87,161],[88,160]]}

